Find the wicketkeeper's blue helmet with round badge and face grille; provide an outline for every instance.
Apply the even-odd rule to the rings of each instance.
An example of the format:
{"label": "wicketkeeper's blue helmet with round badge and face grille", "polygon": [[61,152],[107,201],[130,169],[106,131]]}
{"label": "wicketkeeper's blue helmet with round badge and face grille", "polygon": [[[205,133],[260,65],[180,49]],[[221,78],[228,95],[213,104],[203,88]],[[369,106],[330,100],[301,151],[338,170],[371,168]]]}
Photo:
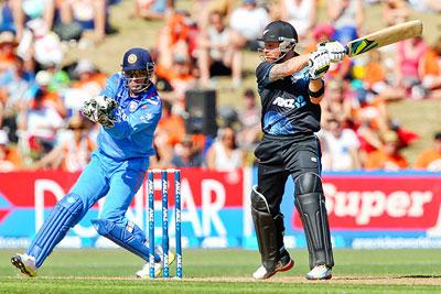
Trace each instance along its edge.
{"label": "wicketkeeper's blue helmet with round badge and face grille", "polygon": [[132,92],[141,92],[150,86],[154,63],[147,50],[128,50],[122,57],[121,67],[126,86],[129,87]]}

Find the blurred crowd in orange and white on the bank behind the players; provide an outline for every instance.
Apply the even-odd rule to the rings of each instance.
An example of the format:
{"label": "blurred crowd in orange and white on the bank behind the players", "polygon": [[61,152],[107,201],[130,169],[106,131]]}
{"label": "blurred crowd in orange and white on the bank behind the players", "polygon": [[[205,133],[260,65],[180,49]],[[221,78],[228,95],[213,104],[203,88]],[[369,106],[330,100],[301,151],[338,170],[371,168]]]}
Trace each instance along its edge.
{"label": "blurred crowd in orange and white on the bank behind the players", "polygon": [[[90,61],[64,63],[69,46],[103,42],[116,33],[110,6],[121,0],[0,1],[0,172],[84,168],[99,126],[83,118],[84,100],[105,87],[107,74]],[[369,33],[366,10],[380,6],[384,26],[410,20],[412,10],[441,13],[438,0],[198,0],[180,10],[173,0],[136,0],[132,15],[163,24],[155,45],[154,83],[164,100],[151,167],[203,166],[232,171],[254,164],[261,138],[260,102],[244,88],[244,52],[271,20],[284,20],[299,33],[299,53],[320,42],[346,44]],[[325,21],[318,21],[319,9]],[[217,108],[218,131],[185,128],[185,94],[216,89],[230,79],[235,106]],[[441,98],[441,32],[429,44],[415,37],[334,64],[322,102],[324,171],[421,168],[441,171],[441,132],[433,145],[409,162],[402,150],[418,133],[401,126],[388,104]]]}

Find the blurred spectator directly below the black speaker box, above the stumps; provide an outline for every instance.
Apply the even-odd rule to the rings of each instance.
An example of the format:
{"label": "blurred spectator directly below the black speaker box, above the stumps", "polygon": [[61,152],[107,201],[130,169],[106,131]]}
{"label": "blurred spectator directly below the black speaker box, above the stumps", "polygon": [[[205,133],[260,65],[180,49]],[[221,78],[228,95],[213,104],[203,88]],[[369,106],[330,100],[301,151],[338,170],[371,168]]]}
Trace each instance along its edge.
{"label": "blurred spectator directly below the black speaker box, above the stumps", "polygon": [[174,167],[202,166],[201,153],[194,149],[193,140],[190,135],[185,135],[182,142],[175,145],[171,163]]}

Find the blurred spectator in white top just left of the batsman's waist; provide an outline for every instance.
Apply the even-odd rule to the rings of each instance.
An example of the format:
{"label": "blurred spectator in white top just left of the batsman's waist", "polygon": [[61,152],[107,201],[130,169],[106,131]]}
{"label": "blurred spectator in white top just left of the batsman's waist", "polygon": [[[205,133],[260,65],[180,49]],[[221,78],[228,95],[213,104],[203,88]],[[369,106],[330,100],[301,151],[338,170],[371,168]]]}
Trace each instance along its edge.
{"label": "blurred spectator in white top just left of the batsman's waist", "polygon": [[244,166],[245,153],[236,145],[235,131],[228,127],[219,129],[217,139],[207,151],[208,170],[230,172]]}

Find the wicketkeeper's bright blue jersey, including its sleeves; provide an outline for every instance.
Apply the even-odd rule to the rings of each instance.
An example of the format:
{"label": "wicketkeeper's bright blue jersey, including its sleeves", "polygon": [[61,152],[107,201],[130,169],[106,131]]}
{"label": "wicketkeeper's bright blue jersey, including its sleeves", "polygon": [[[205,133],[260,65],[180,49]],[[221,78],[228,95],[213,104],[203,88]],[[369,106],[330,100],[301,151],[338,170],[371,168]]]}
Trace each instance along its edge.
{"label": "wicketkeeper's bright blue jersey, including its sleeves", "polygon": [[101,95],[118,101],[114,110],[117,122],[101,128],[98,150],[115,161],[146,159],[154,154],[153,133],[162,113],[162,102],[153,84],[136,96],[130,96],[121,73],[109,77]]}

